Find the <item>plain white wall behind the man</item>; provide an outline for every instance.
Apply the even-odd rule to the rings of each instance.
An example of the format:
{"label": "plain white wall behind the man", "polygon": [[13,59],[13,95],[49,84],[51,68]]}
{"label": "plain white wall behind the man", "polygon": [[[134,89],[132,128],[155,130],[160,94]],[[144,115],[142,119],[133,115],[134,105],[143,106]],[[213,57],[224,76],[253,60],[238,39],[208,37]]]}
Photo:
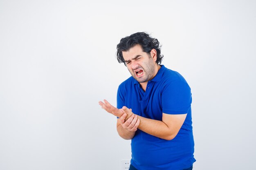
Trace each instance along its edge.
{"label": "plain white wall behind the man", "polygon": [[0,169],[119,170],[115,58],[147,31],[192,89],[195,170],[254,169],[254,0],[0,0]]}

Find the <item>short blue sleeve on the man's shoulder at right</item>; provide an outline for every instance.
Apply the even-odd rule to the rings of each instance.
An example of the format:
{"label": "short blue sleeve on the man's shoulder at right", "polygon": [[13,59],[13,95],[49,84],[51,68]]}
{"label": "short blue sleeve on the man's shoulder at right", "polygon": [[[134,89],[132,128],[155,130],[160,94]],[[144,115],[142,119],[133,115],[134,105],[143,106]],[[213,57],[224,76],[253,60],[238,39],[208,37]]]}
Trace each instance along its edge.
{"label": "short blue sleeve on the man's shoulder at right", "polygon": [[171,115],[186,114],[191,107],[191,89],[186,81],[174,80],[165,84],[161,99],[163,113]]}

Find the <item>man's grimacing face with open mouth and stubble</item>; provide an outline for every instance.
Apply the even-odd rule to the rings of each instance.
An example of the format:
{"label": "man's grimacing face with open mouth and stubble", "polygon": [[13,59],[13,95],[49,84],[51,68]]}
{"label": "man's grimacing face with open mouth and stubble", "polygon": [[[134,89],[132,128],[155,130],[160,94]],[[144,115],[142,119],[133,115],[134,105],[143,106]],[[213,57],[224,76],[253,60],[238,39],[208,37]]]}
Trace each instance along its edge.
{"label": "man's grimacing face with open mouth and stubble", "polygon": [[128,70],[138,82],[148,82],[155,77],[157,73],[155,57],[144,52],[139,44],[130,48],[129,51],[123,51],[122,54]]}

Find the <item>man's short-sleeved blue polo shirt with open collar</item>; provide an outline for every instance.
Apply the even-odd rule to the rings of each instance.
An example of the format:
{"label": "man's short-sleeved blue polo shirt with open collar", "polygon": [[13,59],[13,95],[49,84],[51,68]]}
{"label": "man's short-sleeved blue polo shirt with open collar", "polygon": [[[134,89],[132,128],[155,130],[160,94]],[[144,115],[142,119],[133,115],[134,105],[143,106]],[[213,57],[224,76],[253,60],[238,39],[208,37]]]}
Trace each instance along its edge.
{"label": "man's short-sleeved blue polo shirt with open collar", "polygon": [[195,162],[191,118],[191,90],[186,80],[164,65],[148,81],[146,91],[133,77],[121,83],[117,108],[126,106],[132,112],[162,121],[162,113],[186,114],[177,136],[168,141],[137,130],[131,141],[131,164],[138,170],[183,170]]}

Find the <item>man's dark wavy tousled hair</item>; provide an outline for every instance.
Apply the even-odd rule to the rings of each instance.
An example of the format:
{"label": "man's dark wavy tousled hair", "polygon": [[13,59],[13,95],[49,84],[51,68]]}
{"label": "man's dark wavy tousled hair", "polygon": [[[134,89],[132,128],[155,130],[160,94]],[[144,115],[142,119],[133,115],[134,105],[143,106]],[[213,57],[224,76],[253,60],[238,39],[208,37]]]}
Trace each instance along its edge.
{"label": "man's dark wavy tousled hair", "polygon": [[134,33],[120,40],[120,43],[117,44],[118,62],[124,63],[124,65],[126,66],[122,52],[129,51],[137,44],[141,45],[143,51],[148,53],[148,55],[150,55],[150,51],[152,49],[155,49],[157,51],[156,63],[161,64],[164,57],[164,55],[161,55],[161,45],[159,45],[159,42],[156,38],[151,38],[150,35],[146,32]]}

